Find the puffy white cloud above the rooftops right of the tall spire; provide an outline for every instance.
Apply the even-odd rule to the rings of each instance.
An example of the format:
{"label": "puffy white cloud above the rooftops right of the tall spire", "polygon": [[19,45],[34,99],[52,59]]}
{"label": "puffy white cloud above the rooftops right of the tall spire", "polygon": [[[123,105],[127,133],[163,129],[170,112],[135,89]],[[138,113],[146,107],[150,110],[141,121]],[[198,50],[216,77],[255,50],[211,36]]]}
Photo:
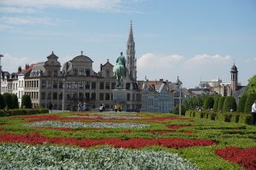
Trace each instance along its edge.
{"label": "puffy white cloud above the rooftops right of the tall spire", "polygon": [[161,56],[157,54],[143,54],[137,59],[138,79],[147,76],[151,80],[160,78],[171,82],[181,77],[183,85],[193,88],[202,81],[211,81],[220,77],[223,81],[230,81],[230,68],[233,60],[229,55],[198,54],[191,58],[171,54]]}

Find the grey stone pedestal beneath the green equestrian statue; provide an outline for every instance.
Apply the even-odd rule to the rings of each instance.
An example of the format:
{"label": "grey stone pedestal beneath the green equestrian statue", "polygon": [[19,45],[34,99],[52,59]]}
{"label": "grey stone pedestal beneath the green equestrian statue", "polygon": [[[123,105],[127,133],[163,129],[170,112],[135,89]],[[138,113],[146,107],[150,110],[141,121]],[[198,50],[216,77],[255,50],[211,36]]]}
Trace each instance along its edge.
{"label": "grey stone pedestal beneath the green equestrian statue", "polygon": [[127,110],[127,90],[123,88],[116,88],[112,90],[113,105],[123,105],[123,111]]}

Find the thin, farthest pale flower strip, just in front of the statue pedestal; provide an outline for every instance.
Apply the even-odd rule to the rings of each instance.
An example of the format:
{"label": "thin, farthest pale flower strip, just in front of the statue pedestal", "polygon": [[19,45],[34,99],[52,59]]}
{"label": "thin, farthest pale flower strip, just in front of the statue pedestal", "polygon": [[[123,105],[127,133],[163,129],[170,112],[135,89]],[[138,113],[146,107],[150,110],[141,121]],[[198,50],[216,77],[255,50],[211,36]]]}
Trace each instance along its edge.
{"label": "thin, farthest pale flower strip, just in front of the statue pedestal", "polygon": [[102,119],[139,119],[139,116],[119,116],[119,115],[87,115],[87,116],[68,116],[68,117],[79,117],[79,118],[102,118]]}

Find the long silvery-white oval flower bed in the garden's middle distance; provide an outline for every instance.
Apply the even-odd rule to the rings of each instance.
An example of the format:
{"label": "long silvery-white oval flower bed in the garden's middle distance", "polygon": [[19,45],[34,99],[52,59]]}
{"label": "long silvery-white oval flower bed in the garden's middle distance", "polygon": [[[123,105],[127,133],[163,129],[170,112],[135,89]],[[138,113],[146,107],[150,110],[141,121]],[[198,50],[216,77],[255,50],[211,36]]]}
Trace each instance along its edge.
{"label": "long silvery-white oval flower bed in the garden's middle distance", "polygon": [[81,128],[81,127],[96,127],[96,128],[143,128],[150,127],[148,124],[137,122],[33,122],[28,124],[28,127],[66,127],[66,128]]}

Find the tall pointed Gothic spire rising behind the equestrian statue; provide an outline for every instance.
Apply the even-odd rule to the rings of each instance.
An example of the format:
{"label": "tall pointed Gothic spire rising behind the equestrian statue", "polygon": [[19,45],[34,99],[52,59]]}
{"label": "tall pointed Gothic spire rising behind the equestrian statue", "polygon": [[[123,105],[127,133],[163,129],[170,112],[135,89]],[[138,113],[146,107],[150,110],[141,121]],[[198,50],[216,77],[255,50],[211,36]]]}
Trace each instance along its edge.
{"label": "tall pointed Gothic spire rising behind the equestrian statue", "polygon": [[137,80],[137,59],[135,58],[135,42],[133,39],[132,32],[132,22],[130,27],[129,38],[127,41],[126,49],[126,68],[128,70],[127,75],[132,78],[132,80]]}

